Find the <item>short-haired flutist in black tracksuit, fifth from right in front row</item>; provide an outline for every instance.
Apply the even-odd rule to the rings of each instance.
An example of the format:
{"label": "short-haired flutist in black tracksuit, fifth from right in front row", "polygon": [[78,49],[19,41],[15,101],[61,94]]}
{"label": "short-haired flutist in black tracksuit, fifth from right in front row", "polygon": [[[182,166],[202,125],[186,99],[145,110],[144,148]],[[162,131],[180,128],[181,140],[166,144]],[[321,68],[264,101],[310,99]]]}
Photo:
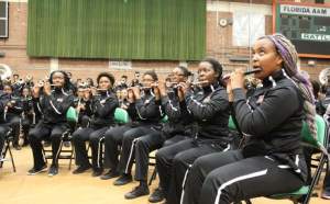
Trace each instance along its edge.
{"label": "short-haired flutist in black tracksuit, fifth from right in front row", "polygon": [[[99,73],[97,78],[98,92],[92,99],[92,117],[90,126],[79,128],[73,134],[73,144],[76,151],[76,163],[78,168],[74,174],[82,173],[92,168],[92,177],[101,175],[103,172],[102,140],[109,126],[114,125],[114,110],[118,107],[118,99],[112,91],[114,77],[108,72]],[[86,141],[91,149],[91,165],[88,160]]]}

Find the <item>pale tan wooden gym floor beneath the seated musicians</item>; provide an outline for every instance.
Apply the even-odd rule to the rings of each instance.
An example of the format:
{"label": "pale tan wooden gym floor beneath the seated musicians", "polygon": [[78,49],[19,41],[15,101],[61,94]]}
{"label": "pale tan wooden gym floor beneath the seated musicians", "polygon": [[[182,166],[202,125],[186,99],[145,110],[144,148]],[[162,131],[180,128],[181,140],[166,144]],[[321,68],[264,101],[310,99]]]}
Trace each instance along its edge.
{"label": "pale tan wooden gym floor beneath the seated musicians", "polygon": [[[147,204],[147,196],[136,200],[125,200],[124,193],[131,191],[138,183],[124,186],[112,185],[112,180],[102,181],[90,177],[91,172],[74,175],[68,170],[68,160],[59,161],[59,173],[50,178],[46,172],[28,175],[32,167],[30,147],[12,150],[16,165],[16,172],[12,171],[11,162],[6,161],[0,169],[0,204]],[[152,168],[151,170],[152,171]],[[150,173],[151,174],[151,173]],[[323,178],[323,177],[322,177]],[[151,186],[153,191],[158,183],[155,180]],[[321,182],[320,182],[321,183]],[[317,188],[320,194],[320,185]],[[274,201],[267,199],[252,200],[254,204],[285,204],[289,201]],[[330,201],[314,197],[312,204],[329,204]]]}

